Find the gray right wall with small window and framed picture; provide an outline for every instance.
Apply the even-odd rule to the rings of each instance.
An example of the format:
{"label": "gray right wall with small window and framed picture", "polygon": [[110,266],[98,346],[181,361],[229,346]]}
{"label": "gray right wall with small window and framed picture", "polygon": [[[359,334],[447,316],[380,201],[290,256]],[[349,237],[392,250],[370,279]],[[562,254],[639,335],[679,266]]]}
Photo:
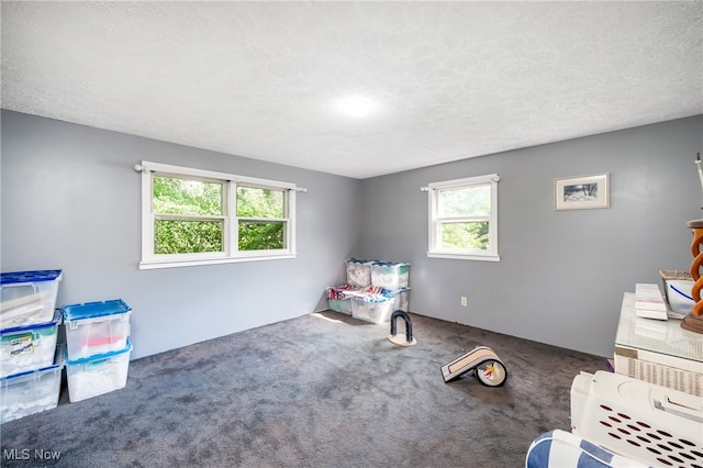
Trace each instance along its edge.
{"label": "gray right wall with small window and framed picture", "polygon": [[[362,180],[359,255],[412,264],[413,312],[612,356],[623,293],[690,267],[702,138],[699,115]],[[427,258],[420,188],[492,172],[501,261]],[[611,175],[610,209],[554,211],[555,178],[598,172]]]}

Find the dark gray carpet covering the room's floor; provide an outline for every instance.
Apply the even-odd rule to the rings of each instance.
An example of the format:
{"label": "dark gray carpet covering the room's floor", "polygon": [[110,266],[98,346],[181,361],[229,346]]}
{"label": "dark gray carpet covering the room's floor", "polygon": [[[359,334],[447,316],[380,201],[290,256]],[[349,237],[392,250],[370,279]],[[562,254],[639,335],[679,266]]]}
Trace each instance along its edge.
{"label": "dark gray carpet covering the room's floor", "polygon": [[[606,368],[412,320],[413,347],[389,343],[389,325],[325,312],[133,360],[122,390],[75,403],[63,393],[56,409],[0,426],[2,466],[521,467],[534,437],[569,430],[573,377]],[[505,386],[444,383],[440,367],[477,345],[505,363]],[[12,449],[29,459],[8,459]]]}

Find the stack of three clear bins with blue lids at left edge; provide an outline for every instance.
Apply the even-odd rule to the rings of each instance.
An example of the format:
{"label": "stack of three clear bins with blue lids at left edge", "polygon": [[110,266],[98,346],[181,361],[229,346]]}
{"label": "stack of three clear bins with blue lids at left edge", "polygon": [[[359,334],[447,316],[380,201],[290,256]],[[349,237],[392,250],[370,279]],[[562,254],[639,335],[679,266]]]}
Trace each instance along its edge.
{"label": "stack of three clear bins with blue lids at left edge", "polygon": [[58,405],[62,270],[0,275],[0,424]]}

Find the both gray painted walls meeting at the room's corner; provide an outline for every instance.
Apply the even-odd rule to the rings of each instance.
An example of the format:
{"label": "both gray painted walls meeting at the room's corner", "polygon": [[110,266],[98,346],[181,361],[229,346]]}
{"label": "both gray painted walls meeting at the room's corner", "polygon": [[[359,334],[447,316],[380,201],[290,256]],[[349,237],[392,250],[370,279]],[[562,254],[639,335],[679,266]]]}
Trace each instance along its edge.
{"label": "both gray painted walls meeting at the room's corner", "polygon": [[[324,309],[350,256],[410,261],[413,312],[612,356],[623,293],[689,268],[702,135],[699,115],[359,181],[2,111],[1,268],[63,268],[59,304],[124,299],[133,358]],[[308,187],[298,258],[138,270],[142,159]],[[427,258],[420,187],[491,172],[501,261]],[[610,209],[554,211],[556,177],[596,172]]]}

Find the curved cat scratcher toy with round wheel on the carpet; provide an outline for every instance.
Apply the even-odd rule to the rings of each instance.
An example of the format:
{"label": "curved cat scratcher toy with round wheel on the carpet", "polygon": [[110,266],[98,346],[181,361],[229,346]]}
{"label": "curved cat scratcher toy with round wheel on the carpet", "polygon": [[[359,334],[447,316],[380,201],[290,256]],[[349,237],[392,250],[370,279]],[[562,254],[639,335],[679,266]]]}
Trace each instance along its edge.
{"label": "curved cat scratcher toy with round wheel on the carpet", "polygon": [[505,365],[488,346],[477,346],[451,363],[442,366],[442,377],[446,383],[458,379],[470,370],[473,370],[479,382],[488,387],[501,387],[507,379]]}

